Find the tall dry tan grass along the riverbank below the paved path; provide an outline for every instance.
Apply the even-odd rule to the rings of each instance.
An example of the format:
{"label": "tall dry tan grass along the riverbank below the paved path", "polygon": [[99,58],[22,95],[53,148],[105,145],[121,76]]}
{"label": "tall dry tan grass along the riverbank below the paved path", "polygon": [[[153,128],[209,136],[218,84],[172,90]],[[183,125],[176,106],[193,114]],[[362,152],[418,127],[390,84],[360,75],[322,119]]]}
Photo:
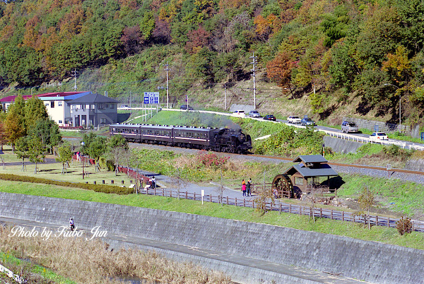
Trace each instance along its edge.
{"label": "tall dry tan grass along the riverbank below the paved path", "polygon": [[231,283],[222,273],[209,273],[192,263],[178,263],[155,252],[136,249],[111,251],[98,239],[84,237],[9,237],[11,227],[0,227],[0,251],[28,258],[57,274],[84,284],[122,283],[131,276],[162,283]]}

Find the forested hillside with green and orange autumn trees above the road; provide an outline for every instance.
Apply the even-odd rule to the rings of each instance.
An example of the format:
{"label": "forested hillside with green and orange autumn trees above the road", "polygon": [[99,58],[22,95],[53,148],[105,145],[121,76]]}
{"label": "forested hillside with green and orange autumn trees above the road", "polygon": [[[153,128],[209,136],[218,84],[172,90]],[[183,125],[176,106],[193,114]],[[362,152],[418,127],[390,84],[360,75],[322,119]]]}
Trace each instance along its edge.
{"label": "forested hillside with green and orange autumn trees above the road", "polygon": [[163,86],[168,61],[183,95],[250,80],[254,52],[273,95],[307,95],[315,113],[355,98],[355,112],[395,121],[402,96],[404,118],[423,115],[421,0],[16,0],[0,12],[3,87],[76,69],[118,96]]}

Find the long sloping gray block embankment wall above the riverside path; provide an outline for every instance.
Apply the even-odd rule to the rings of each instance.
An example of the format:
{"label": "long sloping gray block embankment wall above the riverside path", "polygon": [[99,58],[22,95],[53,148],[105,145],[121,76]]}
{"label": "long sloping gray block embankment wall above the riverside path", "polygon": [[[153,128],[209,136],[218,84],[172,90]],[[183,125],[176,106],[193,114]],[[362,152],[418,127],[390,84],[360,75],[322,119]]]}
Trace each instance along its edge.
{"label": "long sloping gray block embankment wall above the riverside path", "polygon": [[377,283],[424,283],[424,251],[291,228],[69,199],[0,193],[0,216],[226,252]]}

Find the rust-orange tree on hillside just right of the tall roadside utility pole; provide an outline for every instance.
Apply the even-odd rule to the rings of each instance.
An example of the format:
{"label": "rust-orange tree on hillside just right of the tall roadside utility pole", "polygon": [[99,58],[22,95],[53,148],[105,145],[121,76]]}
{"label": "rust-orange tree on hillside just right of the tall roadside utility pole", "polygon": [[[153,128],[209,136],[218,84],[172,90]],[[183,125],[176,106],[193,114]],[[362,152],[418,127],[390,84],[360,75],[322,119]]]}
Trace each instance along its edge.
{"label": "rust-orange tree on hillside just right of the tall roadside utility pole", "polygon": [[286,52],[278,53],[275,58],[266,64],[267,76],[280,87],[288,85],[291,79],[291,70],[296,63]]}

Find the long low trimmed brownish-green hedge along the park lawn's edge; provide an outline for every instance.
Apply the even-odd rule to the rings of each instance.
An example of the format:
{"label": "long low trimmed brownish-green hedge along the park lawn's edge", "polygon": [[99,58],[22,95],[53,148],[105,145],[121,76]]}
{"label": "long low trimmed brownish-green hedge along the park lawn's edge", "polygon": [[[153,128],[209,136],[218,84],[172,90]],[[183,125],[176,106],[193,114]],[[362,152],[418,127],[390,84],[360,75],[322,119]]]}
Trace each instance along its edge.
{"label": "long low trimmed brownish-green hedge along the park lawn's edge", "polygon": [[112,186],[112,185],[106,185],[106,184],[87,184],[87,183],[80,183],[80,182],[73,183],[68,181],[58,181],[58,180],[51,180],[51,179],[24,176],[24,175],[15,175],[10,173],[0,173],[0,179],[11,180],[11,181],[32,182],[32,183],[45,183],[45,184],[53,184],[53,185],[66,186],[66,187],[77,187],[77,188],[89,189],[89,190],[94,190],[96,192],[103,192],[103,193],[115,193],[115,194],[133,193],[133,189],[128,187],[119,187],[119,186]]}

